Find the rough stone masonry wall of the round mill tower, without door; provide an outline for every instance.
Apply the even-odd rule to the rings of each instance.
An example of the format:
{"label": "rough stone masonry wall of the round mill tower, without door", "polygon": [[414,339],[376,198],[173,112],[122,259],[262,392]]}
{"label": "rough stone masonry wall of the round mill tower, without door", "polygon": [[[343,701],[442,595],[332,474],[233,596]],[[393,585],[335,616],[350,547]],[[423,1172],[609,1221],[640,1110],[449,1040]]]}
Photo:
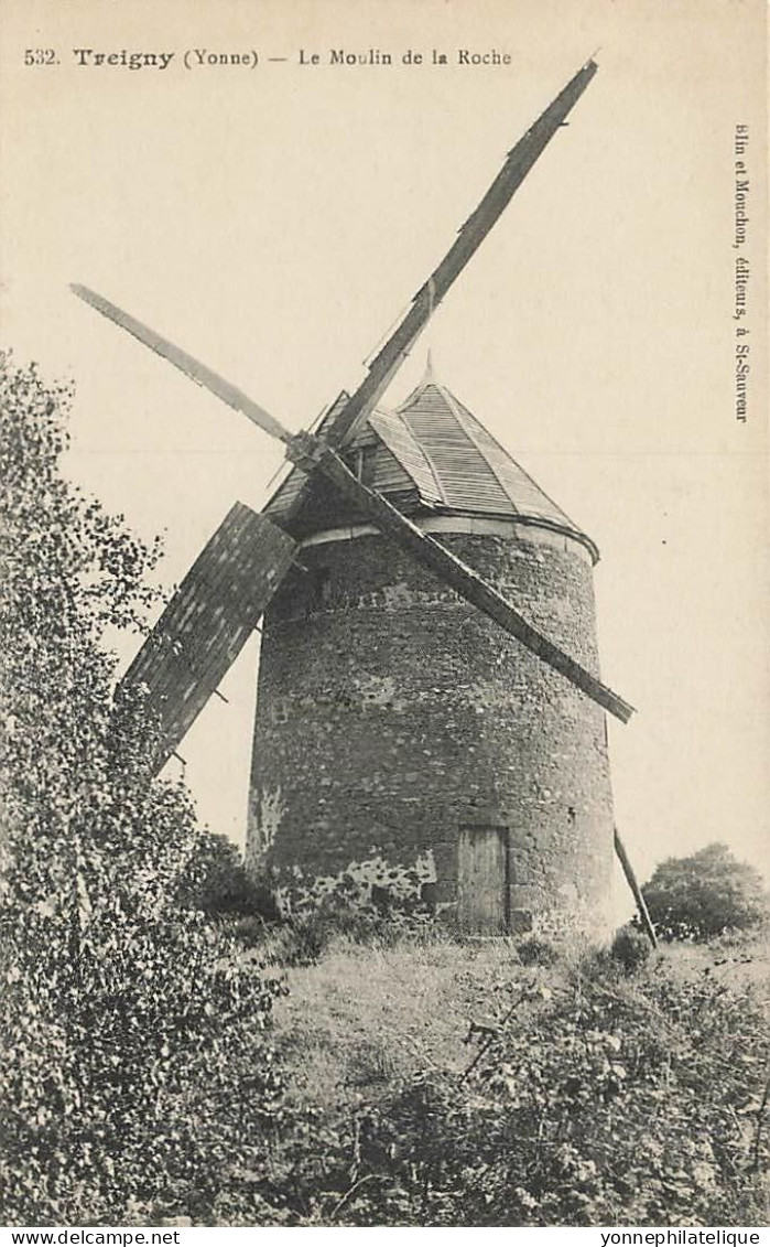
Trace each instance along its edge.
{"label": "rough stone masonry wall of the round mill tower, without door", "polygon": [[[523,532],[441,540],[597,671],[591,566]],[[328,874],[430,849],[451,909],[460,828],[506,827],[512,927],[606,930],[603,712],[385,539],[302,561],[264,622],[252,864]]]}

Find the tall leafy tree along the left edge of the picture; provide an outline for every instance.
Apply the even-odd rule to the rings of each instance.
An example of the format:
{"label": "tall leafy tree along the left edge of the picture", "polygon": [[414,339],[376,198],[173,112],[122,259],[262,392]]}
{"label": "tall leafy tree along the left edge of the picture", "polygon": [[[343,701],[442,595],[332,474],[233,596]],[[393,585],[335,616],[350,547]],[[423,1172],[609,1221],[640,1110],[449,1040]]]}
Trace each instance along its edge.
{"label": "tall leafy tree along the left edge of the picture", "polygon": [[62,476],[71,388],[0,365],[5,1218],[204,1211],[278,1104],[280,988],[184,904],[191,799],[112,701],[105,628],[143,626],[158,547]]}

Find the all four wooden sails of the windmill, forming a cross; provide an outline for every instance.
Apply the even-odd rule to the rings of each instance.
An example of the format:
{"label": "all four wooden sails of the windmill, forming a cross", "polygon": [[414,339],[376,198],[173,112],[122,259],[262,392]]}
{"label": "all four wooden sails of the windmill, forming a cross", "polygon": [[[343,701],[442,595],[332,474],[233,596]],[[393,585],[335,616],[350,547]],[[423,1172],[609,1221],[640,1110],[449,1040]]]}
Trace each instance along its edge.
{"label": "all four wooden sails of the windmill, forming a cross", "polygon": [[[323,473],[371,516],[381,532],[409,550],[460,596],[477,606],[599,706],[627,722],[633,713],[628,702],[532,627],[492,585],[405,519],[385,498],[366,489],[334,449],[344,446],[371,414],[425,328],[435,306],[498,219],[596,72],[597,65],[589,60],[511,150],[502,170],[460,229],[451,248],[415,296],[410,311],[378,352],[361,385],[351,398],[341,405],[336,404],[323,439],[308,433],[292,435],[275,416],[248,395],[147,325],[83,286],[74,286],[72,291],[173,363],[198,385],[243,412],[254,424],[285,445],[288,458],[305,474],[305,479],[299,483],[282,522],[290,524],[311,489],[315,473]],[[169,602],[125,677],[126,681],[150,686],[153,703],[163,721],[163,761],[173,752],[234,661],[248,632],[280,584],[294,549],[292,539],[267,519],[248,508],[235,506]],[[231,582],[232,591],[228,592]],[[221,594],[223,596],[219,601]]]}

